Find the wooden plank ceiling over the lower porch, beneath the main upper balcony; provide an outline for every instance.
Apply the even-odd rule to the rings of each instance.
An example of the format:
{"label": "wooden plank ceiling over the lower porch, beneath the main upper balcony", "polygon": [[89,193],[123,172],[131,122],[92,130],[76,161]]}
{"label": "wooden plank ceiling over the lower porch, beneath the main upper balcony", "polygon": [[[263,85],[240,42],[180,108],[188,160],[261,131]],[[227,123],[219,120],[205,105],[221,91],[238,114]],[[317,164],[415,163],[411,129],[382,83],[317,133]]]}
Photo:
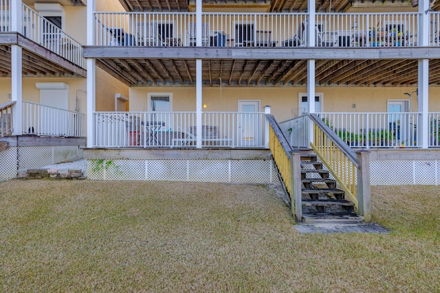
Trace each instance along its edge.
{"label": "wooden plank ceiling over the lower porch, beneath the main upper balcony", "polygon": [[[203,60],[203,86],[305,86],[305,60]],[[195,60],[98,59],[128,86],[195,86]],[[415,86],[417,60],[316,60],[316,86]],[[440,86],[440,60],[430,60]]]}

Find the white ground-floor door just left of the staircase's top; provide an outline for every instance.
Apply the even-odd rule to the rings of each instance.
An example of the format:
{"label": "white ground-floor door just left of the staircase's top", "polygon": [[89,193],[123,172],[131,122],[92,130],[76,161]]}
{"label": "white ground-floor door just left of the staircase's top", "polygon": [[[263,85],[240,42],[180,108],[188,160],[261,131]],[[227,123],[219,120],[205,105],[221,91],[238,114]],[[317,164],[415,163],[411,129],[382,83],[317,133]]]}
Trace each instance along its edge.
{"label": "white ground-floor door just left of the staircase's top", "polygon": [[261,145],[260,101],[239,101],[238,141],[239,146]]}

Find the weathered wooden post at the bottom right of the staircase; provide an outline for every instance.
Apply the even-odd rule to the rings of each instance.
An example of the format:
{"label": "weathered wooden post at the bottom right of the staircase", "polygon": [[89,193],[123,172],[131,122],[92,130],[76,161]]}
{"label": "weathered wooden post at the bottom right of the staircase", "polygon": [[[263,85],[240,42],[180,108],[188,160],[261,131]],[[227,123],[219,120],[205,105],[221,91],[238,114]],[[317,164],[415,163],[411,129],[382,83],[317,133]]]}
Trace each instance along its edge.
{"label": "weathered wooden post at the bottom right of the staircase", "polygon": [[358,214],[368,223],[371,221],[370,152],[359,150],[356,155],[358,156]]}

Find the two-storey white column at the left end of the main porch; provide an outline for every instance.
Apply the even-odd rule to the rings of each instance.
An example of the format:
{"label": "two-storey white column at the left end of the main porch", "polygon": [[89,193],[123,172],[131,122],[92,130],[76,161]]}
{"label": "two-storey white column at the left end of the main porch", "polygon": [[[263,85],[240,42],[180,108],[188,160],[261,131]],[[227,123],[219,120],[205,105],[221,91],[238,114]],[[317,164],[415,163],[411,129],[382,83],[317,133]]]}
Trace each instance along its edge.
{"label": "two-storey white column at the left end of the main porch", "polygon": [[[94,45],[95,23],[94,10],[95,0],[87,3],[87,45]],[[87,148],[94,146],[94,112],[96,110],[96,60],[87,59]]]}

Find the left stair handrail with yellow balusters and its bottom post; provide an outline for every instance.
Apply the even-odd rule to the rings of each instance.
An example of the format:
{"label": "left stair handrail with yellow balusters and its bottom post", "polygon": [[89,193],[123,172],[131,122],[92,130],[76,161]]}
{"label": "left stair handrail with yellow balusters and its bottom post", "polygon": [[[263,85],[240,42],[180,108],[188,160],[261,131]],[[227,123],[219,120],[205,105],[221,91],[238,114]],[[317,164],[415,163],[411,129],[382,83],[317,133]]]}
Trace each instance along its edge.
{"label": "left stair handrail with yellow balusters and its bottom post", "polygon": [[266,114],[269,122],[269,147],[272,152],[281,183],[290,196],[292,214],[297,221],[302,218],[301,202],[301,161],[300,153],[295,152],[287,141],[280,126],[271,114]]}

